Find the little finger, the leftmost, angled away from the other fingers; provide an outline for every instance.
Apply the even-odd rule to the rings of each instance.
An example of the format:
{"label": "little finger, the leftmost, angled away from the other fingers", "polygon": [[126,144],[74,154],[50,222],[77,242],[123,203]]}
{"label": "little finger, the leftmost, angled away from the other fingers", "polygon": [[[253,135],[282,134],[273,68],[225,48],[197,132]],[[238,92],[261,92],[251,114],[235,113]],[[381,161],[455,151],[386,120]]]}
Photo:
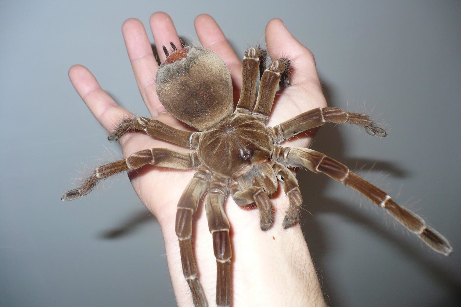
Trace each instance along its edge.
{"label": "little finger, the leftmost, angled away from the other fingers", "polygon": [[69,79],[91,113],[109,133],[115,131],[120,119],[133,116],[102,90],[95,76],[86,67],[72,66]]}

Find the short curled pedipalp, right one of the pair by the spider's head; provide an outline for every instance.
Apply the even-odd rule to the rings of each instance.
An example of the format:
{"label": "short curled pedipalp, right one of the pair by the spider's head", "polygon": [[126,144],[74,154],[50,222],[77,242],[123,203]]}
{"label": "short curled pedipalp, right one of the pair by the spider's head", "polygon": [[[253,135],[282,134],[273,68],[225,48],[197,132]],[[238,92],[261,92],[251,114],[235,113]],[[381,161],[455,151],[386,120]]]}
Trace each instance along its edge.
{"label": "short curled pedipalp, right one of the pair by the spider's head", "polygon": [[299,207],[302,204],[301,191],[299,191],[298,180],[288,168],[278,162],[274,163],[273,168],[278,180],[284,183],[284,192],[290,201],[290,208],[282,224],[287,229],[299,220]]}

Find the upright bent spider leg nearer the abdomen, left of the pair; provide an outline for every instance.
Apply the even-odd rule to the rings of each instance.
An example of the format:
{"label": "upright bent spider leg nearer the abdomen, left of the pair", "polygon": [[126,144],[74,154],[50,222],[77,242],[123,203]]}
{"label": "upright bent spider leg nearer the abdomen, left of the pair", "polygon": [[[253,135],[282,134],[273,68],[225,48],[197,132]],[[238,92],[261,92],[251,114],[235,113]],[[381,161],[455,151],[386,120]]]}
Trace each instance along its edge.
{"label": "upright bent spider leg nearer the abdomen, left of the pair", "polygon": [[245,52],[242,60],[242,90],[238,99],[236,113],[251,114],[256,97],[258,71],[266,70],[266,50],[252,47]]}

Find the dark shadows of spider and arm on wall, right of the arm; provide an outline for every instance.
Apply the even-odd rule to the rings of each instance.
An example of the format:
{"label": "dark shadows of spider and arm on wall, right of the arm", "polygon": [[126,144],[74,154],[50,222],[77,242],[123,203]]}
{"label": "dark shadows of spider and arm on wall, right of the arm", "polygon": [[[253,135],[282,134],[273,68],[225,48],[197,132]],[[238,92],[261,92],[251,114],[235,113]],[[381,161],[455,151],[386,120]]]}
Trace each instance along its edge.
{"label": "dark shadows of spider and arm on wall, right of the arm", "polygon": [[[329,106],[334,106],[331,104],[331,101],[334,100],[334,92],[332,92],[329,87],[325,87],[324,82],[322,88]],[[395,177],[408,177],[411,175],[408,171],[402,170],[400,166],[392,162],[377,162],[367,158],[354,159],[344,156],[343,152],[346,146],[341,138],[341,131],[338,128],[339,127],[334,127],[334,125],[325,125],[321,127],[320,134],[318,135],[319,141],[315,142],[313,146],[315,147],[314,149],[344,163],[352,170],[354,170],[355,166],[361,167],[363,164],[367,164],[367,168],[370,168],[373,163],[376,163],[373,169],[381,170],[384,174],[391,174]],[[322,135],[325,135],[325,137],[322,137]],[[460,306],[460,278],[454,276],[453,272],[449,272],[443,266],[431,259],[431,255],[429,255],[431,251],[424,250],[424,252],[427,252],[424,253],[420,249],[414,249],[414,246],[408,245],[406,239],[397,237],[395,232],[389,231],[388,227],[376,224],[370,220],[366,214],[363,214],[360,209],[352,209],[351,207],[354,204],[325,196],[324,191],[326,186],[329,182],[334,182],[334,180],[328,176],[312,174],[306,170],[298,170],[297,178],[300,184],[301,193],[303,194],[303,199],[305,200],[302,209],[306,209],[301,209],[301,227],[305,234],[305,239],[311,252],[313,262],[320,270],[319,278],[321,284],[323,284],[322,288],[325,290],[325,297],[328,300],[327,303],[329,306],[342,306],[343,302],[342,298],[334,292],[326,293],[326,290],[334,289],[334,283],[331,281],[335,279],[335,276],[326,276],[325,271],[321,270],[322,267],[329,266],[326,259],[329,246],[322,234],[322,226],[320,226],[315,219],[315,215],[320,213],[339,214],[355,224],[364,226],[364,228],[373,232],[379,239],[389,241],[393,246],[396,246],[403,255],[420,266],[421,269],[427,273],[428,278],[431,278],[434,283],[443,285],[443,288],[446,289],[448,296],[446,301],[434,306]],[[311,191],[314,192],[311,193]],[[370,204],[370,206],[373,205]],[[385,212],[383,213],[385,214]],[[415,240],[417,240],[417,238],[415,238]],[[456,304],[453,304],[454,302],[456,302]]]}

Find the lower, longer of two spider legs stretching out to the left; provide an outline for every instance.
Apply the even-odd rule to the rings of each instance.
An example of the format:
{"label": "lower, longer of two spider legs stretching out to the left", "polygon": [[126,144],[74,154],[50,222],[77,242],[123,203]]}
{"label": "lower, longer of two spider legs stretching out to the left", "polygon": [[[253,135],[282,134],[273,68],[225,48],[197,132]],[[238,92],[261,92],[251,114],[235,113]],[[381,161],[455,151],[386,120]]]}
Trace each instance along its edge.
{"label": "lower, longer of two spider legs stretching out to the left", "polygon": [[101,165],[77,189],[65,193],[61,200],[73,200],[87,195],[96,184],[112,175],[141,168],[146,164],[166,168],[191,169],[198,166],[199,159],[195,152],[179,152],[166,148],[152,148],[137,151],[124,160],[119,160]]}

